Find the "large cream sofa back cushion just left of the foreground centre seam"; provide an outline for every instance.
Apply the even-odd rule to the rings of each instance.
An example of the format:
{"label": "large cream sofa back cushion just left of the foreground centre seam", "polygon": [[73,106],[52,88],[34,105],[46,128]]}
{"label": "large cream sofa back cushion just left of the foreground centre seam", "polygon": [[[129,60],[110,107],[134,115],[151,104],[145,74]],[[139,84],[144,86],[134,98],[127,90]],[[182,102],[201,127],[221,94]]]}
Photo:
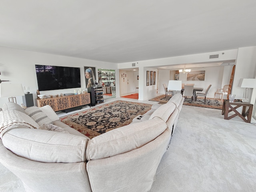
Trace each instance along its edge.
{"label": "large cream sofa back cushion just left of the foreground centre seam", "polygon": [[12,129],[2,138],[6,148],[16,155],[38,162],[85,162],[88,139],[40,129]]}

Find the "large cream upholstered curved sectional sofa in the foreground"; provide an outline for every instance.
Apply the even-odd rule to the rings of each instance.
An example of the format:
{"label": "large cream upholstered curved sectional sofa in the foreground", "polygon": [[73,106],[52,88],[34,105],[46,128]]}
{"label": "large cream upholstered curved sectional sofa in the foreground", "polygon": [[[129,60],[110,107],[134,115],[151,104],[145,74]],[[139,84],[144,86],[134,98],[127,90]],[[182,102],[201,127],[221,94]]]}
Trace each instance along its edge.
{"label": "large cream upholstered curved sectional sofa in the foreground", "polygon": [[[176,94],[166,104],[153,105],[139,122],[91,140],[62,123],[49,107],[38,108],[46,117],[35,121],[30,116],[36,112],[28,116],[8,102],[0,111],[0,163],[28,192],[149,191],[183,101]],[[59,132],[38,129],[47,120]]]}

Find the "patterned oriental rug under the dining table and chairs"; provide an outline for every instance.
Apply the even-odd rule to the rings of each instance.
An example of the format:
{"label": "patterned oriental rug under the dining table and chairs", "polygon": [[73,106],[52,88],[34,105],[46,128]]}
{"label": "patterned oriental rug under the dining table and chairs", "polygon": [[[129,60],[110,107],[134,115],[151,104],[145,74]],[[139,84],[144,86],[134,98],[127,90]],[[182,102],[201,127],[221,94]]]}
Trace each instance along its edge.
{"label": "patterned oriental rug under the dining table and chairs", "polygon": [[[171,96],[160,95],[155,98],[150,99],[150,101],[158,101],[162,104],[167,103],[170,100]],[[206,98],[206,102],[204,102],[204,98],[197,98],[196,101],[191,101],[190,98],[186,98],[183,102],[184,105],[196,106],[196,107],[206,107],[206,108],[214,108],[214,109],[222,109],[223,102],[218,99],[209,99]]]}

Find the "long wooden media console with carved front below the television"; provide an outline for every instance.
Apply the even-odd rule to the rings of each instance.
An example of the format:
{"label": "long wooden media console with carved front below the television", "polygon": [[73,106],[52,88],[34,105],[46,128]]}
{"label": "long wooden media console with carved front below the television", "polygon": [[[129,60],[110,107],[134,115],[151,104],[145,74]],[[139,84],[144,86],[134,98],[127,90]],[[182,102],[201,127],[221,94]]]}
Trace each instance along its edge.
{"label": "long wooden media console with carved front below the television", "polygon": [[69,112],[81,109],[82,106],[90,104],[90,94],[78,94],[69,96],[59,96],[46,99],[37,99],[37,106],[42,107],[50,105],[56,111]]}

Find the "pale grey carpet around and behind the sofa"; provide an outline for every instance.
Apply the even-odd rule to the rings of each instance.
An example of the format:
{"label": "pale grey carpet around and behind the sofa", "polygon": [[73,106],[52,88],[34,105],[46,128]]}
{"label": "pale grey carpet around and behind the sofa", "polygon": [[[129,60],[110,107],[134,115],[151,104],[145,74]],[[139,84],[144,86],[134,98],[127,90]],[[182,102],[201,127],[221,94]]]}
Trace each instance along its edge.
{"label": "pale grey carpet around and behind the sofa", "polygon": [[[217,109],[182,106],[150,192],[255,192],[255,181],[256,126],[224,120]],[[1,164],[0,189],[24,192]]]}

